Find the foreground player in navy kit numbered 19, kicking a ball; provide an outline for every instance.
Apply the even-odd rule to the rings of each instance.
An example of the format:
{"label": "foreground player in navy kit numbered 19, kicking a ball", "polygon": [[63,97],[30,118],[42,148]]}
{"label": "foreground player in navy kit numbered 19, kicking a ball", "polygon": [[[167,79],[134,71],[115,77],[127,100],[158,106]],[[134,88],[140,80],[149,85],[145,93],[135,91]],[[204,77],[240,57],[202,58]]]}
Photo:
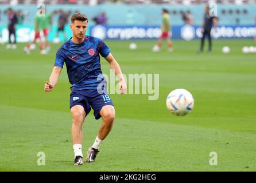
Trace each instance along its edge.
{"label": "foreground player in navy kit numbered 19, kicking a ball", "polygon": [[65,42],[57,51],[55,65],[49,82],[45,82],[44,91],[51,92],[56,86],[63,64],[67,66],[69,82],[72,84],[70,95],[70,110],[72,120],[72,140],[75,153],[75,165],[83,164],[83,132],[84,119],[94,109],[95,119],[102,117],[103,122],[99,128],[94,144],[88,149],[87,162],[94,162],[99,146],[107,137],[113,126],[115,109],[106,90],[106,79],[100,69],[100,55],[110,63],[119,77],[119,89],[126,93],[126,82],[122,71],[110,53],[110,49],[99,38],[85,36],[88,19],[86,15],[75,13],[71,17],[70,28],[72,38]]}

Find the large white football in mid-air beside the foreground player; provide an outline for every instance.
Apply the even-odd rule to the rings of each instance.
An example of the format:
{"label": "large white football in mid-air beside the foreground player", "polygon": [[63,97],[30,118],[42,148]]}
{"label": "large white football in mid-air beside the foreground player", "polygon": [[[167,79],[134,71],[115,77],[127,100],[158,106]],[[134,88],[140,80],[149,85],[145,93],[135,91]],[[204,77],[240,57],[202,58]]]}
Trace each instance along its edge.
{"label": "large white football in mid-air beside the foreground player", "polygon": [[176,89],[168,94],[166,107],[169,112],[177,116],[184,116],[192,111],[194,98],[188,90]]}

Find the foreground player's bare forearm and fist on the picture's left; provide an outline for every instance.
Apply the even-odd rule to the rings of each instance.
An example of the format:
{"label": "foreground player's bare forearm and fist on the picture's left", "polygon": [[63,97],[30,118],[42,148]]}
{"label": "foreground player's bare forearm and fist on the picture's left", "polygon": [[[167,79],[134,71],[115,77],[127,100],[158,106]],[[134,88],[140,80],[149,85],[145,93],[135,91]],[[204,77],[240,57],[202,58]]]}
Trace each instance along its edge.
{"label": "foreground player's bare forearm and fist on the picture's left", "polygon": [[61,67],[54,66],[52,70],[52,74],[50,76],[49,82],[46,81],[44,85],[44,92],[51,92],[53,88],[57,85],[61,73]]}

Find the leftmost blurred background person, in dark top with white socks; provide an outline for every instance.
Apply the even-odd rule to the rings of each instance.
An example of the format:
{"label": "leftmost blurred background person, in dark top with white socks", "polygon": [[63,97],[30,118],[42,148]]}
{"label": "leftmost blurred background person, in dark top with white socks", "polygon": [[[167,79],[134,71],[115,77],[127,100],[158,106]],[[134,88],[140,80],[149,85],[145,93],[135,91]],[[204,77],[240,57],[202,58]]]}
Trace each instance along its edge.
{"label": "leftmost blurred background person, in dark top with white socks", "polygon": [[[7,49],[16,49],[16,26],[18,23],[18,18],[16,13],[13,11],[13,9],[9,8],[7,9],[7,16],[8,16],[8,31],[9,31],[9,43],[6,45]],[[11,40],[11,35],[13,35],[14,40]]]}

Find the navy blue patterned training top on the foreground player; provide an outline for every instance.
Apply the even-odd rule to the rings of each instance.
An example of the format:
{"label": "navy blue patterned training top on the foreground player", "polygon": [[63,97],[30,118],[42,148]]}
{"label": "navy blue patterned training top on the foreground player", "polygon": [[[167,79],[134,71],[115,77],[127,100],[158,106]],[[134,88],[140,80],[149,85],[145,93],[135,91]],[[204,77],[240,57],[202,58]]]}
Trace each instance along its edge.
{"label": "navy blue patterned training top on the foreground player", "polygon": [[86,36],[83,43],[65,42],[56,53],[55,66],[65,62],[72,90],[96,89],[106,82],[100,68],[100,55],[107,57],[110,49],[99,38]]}

